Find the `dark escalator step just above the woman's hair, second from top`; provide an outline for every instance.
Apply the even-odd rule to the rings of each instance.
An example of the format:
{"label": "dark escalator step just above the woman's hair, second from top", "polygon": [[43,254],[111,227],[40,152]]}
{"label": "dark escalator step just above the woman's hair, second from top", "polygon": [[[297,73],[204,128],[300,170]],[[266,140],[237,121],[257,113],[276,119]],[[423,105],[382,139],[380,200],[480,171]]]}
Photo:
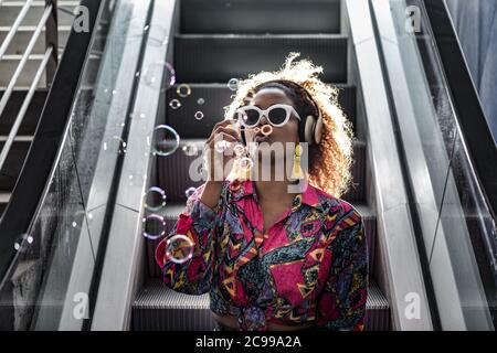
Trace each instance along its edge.
{"label": "dark escalator step just above the woman's hair, second from top", "polygon": [[178,82],[228,83],[261,71],[275,71],[289,52],[300,52],[326,69],[325,82],[347,82],[348,38],[319,35],[204,35],[175,38]]}

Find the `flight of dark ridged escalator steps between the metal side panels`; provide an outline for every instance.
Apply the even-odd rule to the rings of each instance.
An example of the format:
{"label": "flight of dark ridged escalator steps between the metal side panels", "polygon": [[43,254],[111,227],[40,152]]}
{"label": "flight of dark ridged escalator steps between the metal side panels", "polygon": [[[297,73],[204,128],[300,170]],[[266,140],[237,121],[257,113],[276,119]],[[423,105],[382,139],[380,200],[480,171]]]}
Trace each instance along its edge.
{"label": "flight of dark ridged escalator steps between the metal side panels", "polygon": [[[228,84],[233,78],[275,71],[289,52],[298,51],[303,57],[311,57],[326,67],[324,79],[340,88],[340,105],[352,120],[356,135],[358,125],[363,124],[356,114],[357,86],[348,77],[349,35],[340,18],[340,1],[294,1],[283,9],[269,1],[261,7],[243,1],[232,7],[221,1],[180,4],[180,25],[171,34],[177,83],[168,89],[167,101],[180,101],[181,107],[168,105],[162,124],[172,127],[181,141],[175,153],[158,159],[151,175],[151,185],[167,191],[168,203],[160,213],[167,224],[166,234],[184,207],[186,191],[202,183],[189,178],[188,165],[198,153],[187,156],[184,150],[195,146],[201,151],[214,124],[223,119],[223,107],[230,104],[234,93]],[[190,94],[184,97],[183,90]],[[202,111],[201,120],[194,118],[197,111]],[[362,214],[370,249],[366,328],[389,330],[389,303],[373,274],[377,217],[367,199],[367,148],[363,139],[353,141],[355,188],[343,200]],[[133,330],[211,330],[214,323],[209,295],[192,298],[161,286],[160,269],[154,257],[160,239],[148,240],[146,245],[147,272],[145,286],[134,303]]]}

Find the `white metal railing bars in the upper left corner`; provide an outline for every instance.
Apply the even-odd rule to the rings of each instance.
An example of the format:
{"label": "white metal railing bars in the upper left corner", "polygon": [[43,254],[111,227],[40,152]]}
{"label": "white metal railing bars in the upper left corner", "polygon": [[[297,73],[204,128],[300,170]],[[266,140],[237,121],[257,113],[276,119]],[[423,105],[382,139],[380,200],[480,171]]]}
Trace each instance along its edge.
{"label": "white metal railing bars in the upper left corner", "polygon": [[[15,34],[18,33],[20,24],[24,21],[27,18],[28,12],[33,6],[34,0],[27,0],[24,6],[22,7],[21,11],[19,12],[14,23],[10,28],[8,34],[6,35],[6,39],[3,40],[3,43],[0,46],[0,62],[2,57],[4,56],[9,45],[12,43],[12,40],[14,39]],[[1,1],[0,1],[1,6]],[[57,65],[57,0],[46,0],[45,1],[45,9],[43,11],[43,15],[38,23],[33,35],[31,36],[24,53],[21,56],[21,60],[15,67],[15,71],[10,78],[10,82],[3,92],[3,95],[0,99],[0,119],[2,119],[2,114],[7,107],[7,104],[14,90],[15,84],[21,76],[25,64],[28,63],[28,60],[31,56],[31,53],[33,52],[33,49],[40,38],[41,32],[43,29],[45,29],[45,52],[43,55],[43,58],[36,69],[36,73],[34,74],[32,84],[28,90],[28,94],[24,97],[24,100],[22,103],[22,106],[19,110],[19,114],[15,117],[15,120],[13,121],[12,127],[10,128],[9,136],[6,140],[6,143],[3,145],[3,148],[0,152],[0,171],[2,170],[3,164],[6,163],[7,157],[9,156],[10,149],[12,148],[12,145],[14,142],[14,139],[17,137],[17,133],[19,131],[19,128],[25,117],[25,114],[28,111],[28,107],[31,104],[31,99],[33,98],[34,92],[38,88],[38,85],[40,83],[40,79],[42,77],[43,72],[46,71],[46,83],[47,85],[52,82],[52,78],[55,74],[55,68]]]}

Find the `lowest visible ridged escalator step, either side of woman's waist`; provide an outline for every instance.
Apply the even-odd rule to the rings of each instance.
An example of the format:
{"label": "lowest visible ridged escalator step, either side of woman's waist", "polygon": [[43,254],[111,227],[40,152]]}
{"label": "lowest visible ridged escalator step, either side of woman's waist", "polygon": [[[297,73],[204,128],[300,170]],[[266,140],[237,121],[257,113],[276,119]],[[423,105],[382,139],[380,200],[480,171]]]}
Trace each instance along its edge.
{"label": "lowest visible ridged escalator step, either side of woman's waist", "polygon": [[[135,331],[212,330],[209,295],[188,296],[151,280],[135,300],[131,327]],[[389,303],[373,281],[368,288],[364,327],[368,331],[390,330]]]}

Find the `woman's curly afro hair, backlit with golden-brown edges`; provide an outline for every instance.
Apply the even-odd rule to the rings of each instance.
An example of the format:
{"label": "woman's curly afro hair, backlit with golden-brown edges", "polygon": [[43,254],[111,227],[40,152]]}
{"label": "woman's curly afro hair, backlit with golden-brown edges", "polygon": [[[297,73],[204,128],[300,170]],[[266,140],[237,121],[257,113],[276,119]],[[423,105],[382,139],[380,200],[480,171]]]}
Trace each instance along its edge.
{"label": "woman's curly afro hair, backlit with golden-brown edges", "polygon": [[324,121],[322,138],[319,145],[309,146],[309,183],[340,197],[352,182],[352,125],[338,103],[339,89],[318,77],[322,67],[307,58],[296,61],[298,56],[299,53],[289,53],[279,71],[251,74],[239,81],[233,101],[224,107],[225,119],[233,117],[240,106],[267,87],[283,89],[300,116],[317,115],[319,109]]}

